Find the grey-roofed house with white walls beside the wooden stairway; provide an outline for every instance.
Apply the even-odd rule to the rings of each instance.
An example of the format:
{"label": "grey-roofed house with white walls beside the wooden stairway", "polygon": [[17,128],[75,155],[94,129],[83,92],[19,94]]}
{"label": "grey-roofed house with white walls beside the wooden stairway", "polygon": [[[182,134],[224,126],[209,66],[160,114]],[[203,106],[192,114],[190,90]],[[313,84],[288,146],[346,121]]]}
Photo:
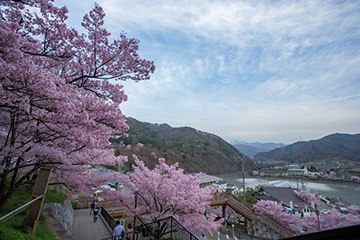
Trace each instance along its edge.
{"label": "grey-roofed house with white walls beside the wooden stairway", "polygon": [[262,186],[254,193],[254,197],[280,202],[285,209],[298,216],[307,216],[312,211],[310,204],[300,199],[290,187]]}

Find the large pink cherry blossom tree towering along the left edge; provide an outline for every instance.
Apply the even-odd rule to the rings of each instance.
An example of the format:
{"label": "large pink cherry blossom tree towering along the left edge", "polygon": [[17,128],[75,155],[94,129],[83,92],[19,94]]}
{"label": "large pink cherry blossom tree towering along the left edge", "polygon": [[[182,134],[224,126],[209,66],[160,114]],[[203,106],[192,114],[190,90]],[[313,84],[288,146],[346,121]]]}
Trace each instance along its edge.
{"label": "large pink cherry blossom tree towering along the left edge", "polygon": [[154,64],[139,57],[138,40],[109,40],[99,5],[83,18],[86,34],[52,1],[0,8],[0,209],[40,167],[54,170],[53,184],[86,193],[106,180],[87,166],[126,160],[105,148],[128,129],[116,80],[147,80]]}

